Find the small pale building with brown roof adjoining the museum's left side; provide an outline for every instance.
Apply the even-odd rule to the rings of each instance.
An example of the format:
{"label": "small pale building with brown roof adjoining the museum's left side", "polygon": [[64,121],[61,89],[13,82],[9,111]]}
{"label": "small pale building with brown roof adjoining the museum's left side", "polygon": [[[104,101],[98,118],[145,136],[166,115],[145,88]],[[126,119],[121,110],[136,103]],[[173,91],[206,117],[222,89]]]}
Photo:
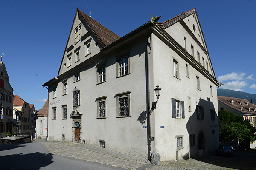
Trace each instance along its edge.
{"label": "small pale building with brown roof adjoining the museum's left side", "polygon": [[41,111],[38,112],[36,119],[36,134],[37,137],[47,136],[47,120],[48,120],[48,100],[44,103]]}

